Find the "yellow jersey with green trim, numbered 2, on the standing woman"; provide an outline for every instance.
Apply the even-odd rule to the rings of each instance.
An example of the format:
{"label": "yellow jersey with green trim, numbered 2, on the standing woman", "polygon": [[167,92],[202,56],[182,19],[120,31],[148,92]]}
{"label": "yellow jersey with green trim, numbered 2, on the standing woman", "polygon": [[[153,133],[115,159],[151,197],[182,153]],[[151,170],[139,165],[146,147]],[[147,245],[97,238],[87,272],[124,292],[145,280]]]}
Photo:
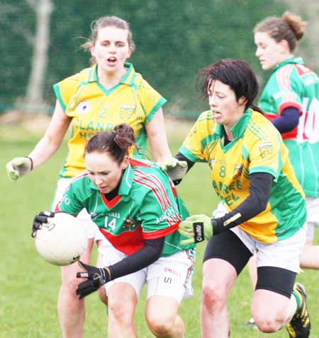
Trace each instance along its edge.
{"label": "yellow jersey with green trim, numbered 2, on the standing woman", "polygon": [[97,65],[53,86],[62,109],[72,118],[69,153],[60,177],[74,177],[85,169],[84,148],[93,134],[111,131],[123,122],[134,129],[136,144],[141,148],[140,153],[132,149],[130,156],[145,157],[145,125],[167,100],[135,72],[133,64],[125,63],[125,67],[128,70],[120,83],[108,90],[98,81]]}

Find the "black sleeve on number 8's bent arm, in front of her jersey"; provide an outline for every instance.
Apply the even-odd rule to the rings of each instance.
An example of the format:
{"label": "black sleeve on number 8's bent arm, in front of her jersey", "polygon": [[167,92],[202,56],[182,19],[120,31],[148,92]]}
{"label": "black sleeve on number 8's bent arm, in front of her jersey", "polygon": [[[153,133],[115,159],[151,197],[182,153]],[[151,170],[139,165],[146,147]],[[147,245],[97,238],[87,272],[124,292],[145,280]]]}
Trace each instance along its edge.
{"label": "black sleeve on number 8's bent arm, in front of her jersey", "polygon": [[273,180],[274,177],[269,173],[250,175],[250,196],[230,213],[212,220],[214,235],[238,226],[264,211],[269,201]]}

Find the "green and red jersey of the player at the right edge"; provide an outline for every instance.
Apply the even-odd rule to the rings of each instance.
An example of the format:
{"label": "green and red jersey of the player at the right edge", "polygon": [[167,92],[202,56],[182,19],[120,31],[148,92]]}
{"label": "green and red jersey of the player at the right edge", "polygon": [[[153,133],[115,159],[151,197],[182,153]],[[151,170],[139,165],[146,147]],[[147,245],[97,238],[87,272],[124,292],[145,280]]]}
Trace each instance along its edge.
{"label": "green and red jersey of the player at the right edge", "polygon": [[269,120],[286,107],[301,112],[298,126],[282,134],[289,158],[306,196],[319,197],[319,78],[301,57],[274,67],[264,87],[260,107]]}

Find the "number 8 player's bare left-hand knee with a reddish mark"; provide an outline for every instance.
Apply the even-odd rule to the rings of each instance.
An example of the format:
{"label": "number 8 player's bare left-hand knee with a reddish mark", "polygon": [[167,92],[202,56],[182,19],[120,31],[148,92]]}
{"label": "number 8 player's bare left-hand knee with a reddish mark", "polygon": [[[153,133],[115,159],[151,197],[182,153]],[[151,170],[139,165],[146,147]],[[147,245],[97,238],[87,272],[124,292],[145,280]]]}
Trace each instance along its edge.
{"label": "number 8 player's bare left-hand knee with a reddish mark", "polygon": [[202,298],[203,305],[211,310],[219,310],[226,303],[226,290],[218,284],[203,283]]}

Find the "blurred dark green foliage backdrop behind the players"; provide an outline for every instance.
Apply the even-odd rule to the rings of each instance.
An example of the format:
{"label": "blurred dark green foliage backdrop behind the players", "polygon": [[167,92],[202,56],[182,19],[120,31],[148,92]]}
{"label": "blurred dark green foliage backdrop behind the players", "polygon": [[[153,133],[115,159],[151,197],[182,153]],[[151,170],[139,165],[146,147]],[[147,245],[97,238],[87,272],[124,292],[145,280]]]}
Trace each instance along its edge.
{"label": "blurred dark green foliage backdrop behind the players", "polygon": [[[278,0],[54,0],[45,99],[53,105],[52,84],[89,66],[89,54],[79,49],[89,37],[90,23],[101,16],[120,16],[133,30],[135,70],[169,100],[166,111],[191,117],[206,107],[196,93],[196,74],[218,59],[250,62],[262,82],[254,57],[252,29],[264,16],[281,15]],[[10,11],[8,10],[8,6]],[[32,47],[26,33],[34,33],[35,12],[26,0],[0,4],[0,37],[5,83],[0,107],[10,106],[26,92]]]}

